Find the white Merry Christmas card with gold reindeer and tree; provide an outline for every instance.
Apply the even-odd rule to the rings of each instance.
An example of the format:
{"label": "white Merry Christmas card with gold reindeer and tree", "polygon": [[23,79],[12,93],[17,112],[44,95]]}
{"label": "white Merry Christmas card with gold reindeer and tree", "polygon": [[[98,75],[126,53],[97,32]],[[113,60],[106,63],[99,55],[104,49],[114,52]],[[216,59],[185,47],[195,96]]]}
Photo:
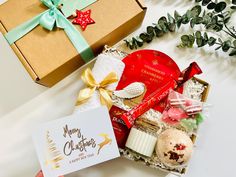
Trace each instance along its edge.
{"label": "white Merry Christmas card with gold reindeer and tree", "polygon": [[120,156],[109,113],[100,107],[40,126],[33,141],[45,177],[58,177]]}

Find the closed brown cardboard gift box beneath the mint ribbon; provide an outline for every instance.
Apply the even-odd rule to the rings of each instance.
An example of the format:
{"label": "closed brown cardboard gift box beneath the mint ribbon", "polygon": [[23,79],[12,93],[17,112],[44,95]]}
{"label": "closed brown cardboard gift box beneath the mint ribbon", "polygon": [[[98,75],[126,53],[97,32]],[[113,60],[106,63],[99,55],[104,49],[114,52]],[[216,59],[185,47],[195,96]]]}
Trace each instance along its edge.
{"label": "closed brown cardboard gift box beneath the mint ribbon", "polygon": [[[113,45],[141,24],[146,8],[142,0],[98,0],[91,9],[95,24],[81,31],[95,54],[105,44]],[[47,10],[39,0],[8,0],[0,6],[0,31],[9,30]],[[36,27],[12,45],[31,77],[52,86],[84,64],[65,32]]]}

